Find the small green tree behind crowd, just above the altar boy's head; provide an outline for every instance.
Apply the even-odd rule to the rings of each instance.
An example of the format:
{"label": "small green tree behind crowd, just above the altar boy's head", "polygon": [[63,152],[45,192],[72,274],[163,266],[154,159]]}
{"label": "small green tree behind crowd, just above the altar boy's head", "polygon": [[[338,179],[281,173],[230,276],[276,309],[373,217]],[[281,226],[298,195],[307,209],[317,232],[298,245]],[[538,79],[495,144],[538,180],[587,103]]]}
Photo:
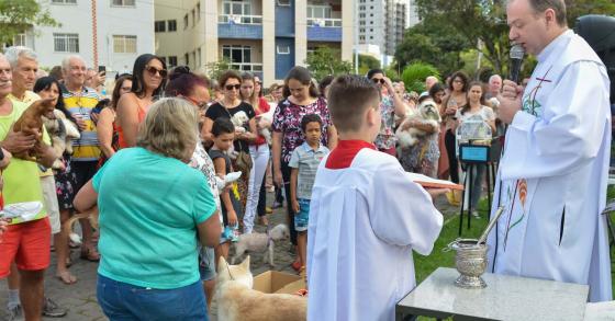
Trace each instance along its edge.
{"label": "small green tree behind crowd, just above the altar boy's head", "polygon": [[342,60],[340,56],[339,49],[317,47],[313,54],[308,55],[305,65],[312,71],[312,77],[317,80],[328,74],[350,73],[353,71],[353,64]]}

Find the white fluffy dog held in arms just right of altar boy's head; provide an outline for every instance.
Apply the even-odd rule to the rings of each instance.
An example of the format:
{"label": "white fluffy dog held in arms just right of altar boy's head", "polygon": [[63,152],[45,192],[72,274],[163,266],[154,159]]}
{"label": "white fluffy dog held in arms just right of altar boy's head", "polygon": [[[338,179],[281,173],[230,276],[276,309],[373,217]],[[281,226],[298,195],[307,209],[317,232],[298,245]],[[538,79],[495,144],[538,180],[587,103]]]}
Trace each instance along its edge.
{"label": "white fluffy dog held in arms just right of altar boy's head", "polygon": [[426,123],[434,125],[436,128],[439,127],[441,122],[440,113],[438,111],[437,104],[433,100],[423,101],[416,110],[407,111],[404,121],[400,124],[400,127],[395,131],[395,136],[399,139],[400,147],[411,147],[418,141],[420,137],[424,137],[427,133],[410,127],[404,129],[404,125],[410,122],[420,121],[421,123]]}

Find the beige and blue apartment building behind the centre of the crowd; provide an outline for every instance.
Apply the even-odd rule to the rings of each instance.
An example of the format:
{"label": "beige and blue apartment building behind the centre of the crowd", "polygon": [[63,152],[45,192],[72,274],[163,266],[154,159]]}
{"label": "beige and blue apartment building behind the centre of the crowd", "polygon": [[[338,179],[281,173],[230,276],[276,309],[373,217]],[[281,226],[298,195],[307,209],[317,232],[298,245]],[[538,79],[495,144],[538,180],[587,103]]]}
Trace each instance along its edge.
{"label": "beige and blue apartment building behind the centre of the crowd", "polygon": [[355,0],[155,0],[156,54],[203,70],[223,58],[265,84],[318,46],[353,59]]}

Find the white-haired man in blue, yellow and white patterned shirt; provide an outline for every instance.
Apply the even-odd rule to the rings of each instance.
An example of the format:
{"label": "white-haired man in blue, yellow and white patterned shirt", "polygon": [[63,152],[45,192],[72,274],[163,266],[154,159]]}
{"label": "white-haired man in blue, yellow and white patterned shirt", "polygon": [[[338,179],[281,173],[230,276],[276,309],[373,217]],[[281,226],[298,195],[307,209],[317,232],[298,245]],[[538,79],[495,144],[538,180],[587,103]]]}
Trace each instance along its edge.
{"label": "white-haired man in blue, yellow and white patterned shirt", "polygon": [[[100,148],[91,113],[101,98],[96,90],[83,85],[87,72],[83,58],[77,55],[66,57],[62,61],[62,71],[65,81],[62,92],[64,104],[77,121],[81,131],[81,138],[72,142],[74,152],[70,160],[70,165],[77,175],[76,190],[79,191],[97,172]],[[97,262],[100,255],[91,242],[90,223],[87,219],[80,222],[83,232],[81,257]]]}

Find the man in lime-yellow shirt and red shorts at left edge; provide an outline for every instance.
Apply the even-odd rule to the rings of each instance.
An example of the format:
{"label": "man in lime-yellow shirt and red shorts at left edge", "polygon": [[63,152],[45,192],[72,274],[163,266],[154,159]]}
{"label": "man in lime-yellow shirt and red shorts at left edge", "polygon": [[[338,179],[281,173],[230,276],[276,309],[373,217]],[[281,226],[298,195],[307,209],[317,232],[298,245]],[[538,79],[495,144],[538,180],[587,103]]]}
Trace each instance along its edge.
{"label": "man in lime-yellow shirt and red shorts at left edge", "polygon": [[[0,55],[0,147],[13,154],[34,149],[38,154],[36,162],[51,167],[55,152],[49,146],[44,142],[35,146],[35,134],[10,130],[29,106],[8,99],[12,92],[11,79],[11,65],[4,55]],[[44,133],[41,134],[45,136]],[[0,243],[0,278],[9,276],[11,264],[16,264],[21,283],[19,296],[26,320],[41,319],[45,270],[51,261],[51,225],[43,205],[36,162],[13,158],[2,172],[5,183],[2,196],[7,207],[30,204],[32,208],[27,215],[11,219]],[[9,317],[14,316],[11,313]]]}

